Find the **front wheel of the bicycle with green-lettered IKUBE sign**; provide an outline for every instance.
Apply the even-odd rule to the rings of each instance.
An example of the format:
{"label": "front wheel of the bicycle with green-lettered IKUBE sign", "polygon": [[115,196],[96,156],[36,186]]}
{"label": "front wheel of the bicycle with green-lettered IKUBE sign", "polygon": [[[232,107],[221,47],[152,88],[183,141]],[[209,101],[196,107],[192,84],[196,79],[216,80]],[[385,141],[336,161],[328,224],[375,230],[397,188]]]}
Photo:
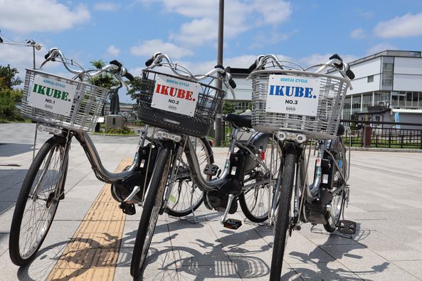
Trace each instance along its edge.
{"label": "front wheel of the bicycle with green-lettered IKUBE sign", "polygon": [[64,190],[67,169],[65,139],[51,137],[28,169],[16,201],[9,238],[9,254],[15,265],[28,264],[46,238]]}

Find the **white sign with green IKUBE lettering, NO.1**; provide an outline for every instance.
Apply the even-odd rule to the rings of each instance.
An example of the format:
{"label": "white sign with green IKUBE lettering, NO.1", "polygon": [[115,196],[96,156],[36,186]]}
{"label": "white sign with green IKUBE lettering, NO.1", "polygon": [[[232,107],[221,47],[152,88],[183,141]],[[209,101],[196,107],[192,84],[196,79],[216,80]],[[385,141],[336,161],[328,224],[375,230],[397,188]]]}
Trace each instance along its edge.
{"label": "white sign with green IKUBE lettering, NO.1", "polygon": [[48,112],[70,116],[76,85],[70,85],[54,78],[35,75],[29,89],[28,104]]}

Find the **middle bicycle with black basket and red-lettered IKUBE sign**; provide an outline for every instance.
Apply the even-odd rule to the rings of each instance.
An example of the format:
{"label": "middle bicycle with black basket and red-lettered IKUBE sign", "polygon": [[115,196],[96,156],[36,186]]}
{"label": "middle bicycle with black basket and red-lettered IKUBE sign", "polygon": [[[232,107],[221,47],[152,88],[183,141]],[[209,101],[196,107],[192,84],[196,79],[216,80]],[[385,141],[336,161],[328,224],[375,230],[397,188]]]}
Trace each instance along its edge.
{"label": "middle bicycle with black basket and red-lettered IKUBE sign", "polygon": [[[133,277],[142,272],[158,216],[166,210],[174,192],[174,182],[183,174],[180,169],[189,169],[195,189],[204,191],[206,208],[223,212],[221,224],[237,229],[242,222],[228,218],[228,214],[236,212],[238,199],[245,201],[241,206],[248,209],[246,216],[251,220],[265,221],[268,218],[273,194],[270,187],[277,178],[271,171],[276,170],[273,166],[278,166],[280,159],[275,157],[275,154],[280,154],[280,146],[273,134],[254,132],[248,142],[238,142],[236,137],[241,128],[251,128],[251,117],[228,115],[226,120],[234,127],[226,164],[222,170],[207,164],[204,177],[191,138],[201,139],[208,134],[217,107],[225,95],[223,90],[211,85],[213,80],[222,80],[234,95],[236,83],[231,79],[229,68],[217,65],[206,75],[192,75],[162,53],[156,53],[146,65],[139,87],[137,117],[156,128],[148,140],[157,150],[157,156],[134,243],[130,270]],[[268,193],[265,197],[268,203],[266,211],[263,210],[265,202],[258,196],[260,193]],[[252,200],[248,201],[244,198],[248,194],[258,195],[251,196]]]}

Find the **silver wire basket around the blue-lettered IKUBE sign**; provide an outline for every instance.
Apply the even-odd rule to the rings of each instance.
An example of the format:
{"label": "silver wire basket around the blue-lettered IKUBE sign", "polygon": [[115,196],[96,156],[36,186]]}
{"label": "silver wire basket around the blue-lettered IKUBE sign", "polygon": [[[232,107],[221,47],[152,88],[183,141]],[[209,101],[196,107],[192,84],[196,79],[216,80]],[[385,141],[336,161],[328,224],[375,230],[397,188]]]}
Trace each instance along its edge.
{"label": "silver wire basket around the blue-lettered IKUBE sign", "polygon": [[[267,112],[268,81],[271,74],[320,78],[316,116]],[[334,75],[301,70],[257,70],[252,77],[252,126],[260,132],[292,131],[310,137],[332,139],[337,134],[349,81]]]}

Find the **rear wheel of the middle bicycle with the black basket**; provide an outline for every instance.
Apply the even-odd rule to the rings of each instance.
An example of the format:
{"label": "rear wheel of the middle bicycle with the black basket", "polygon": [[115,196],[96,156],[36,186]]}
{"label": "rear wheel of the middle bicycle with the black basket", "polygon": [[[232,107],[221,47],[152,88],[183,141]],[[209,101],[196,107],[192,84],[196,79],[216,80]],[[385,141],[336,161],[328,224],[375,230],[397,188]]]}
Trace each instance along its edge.
{"label": "rear wheel of the middle bicycle with the black basket", "polygon": [[[243,180],[244,186],[254,184],[257,181],[277,179],[278,169],[280,169],[281,150],[274,139],[268,140],[268,146],[264,155],[265,159],[263,162],[265,167],[262,164],[258,164],[252,171],[248,171]],[[270,169],[270,166],[273,167],[271,173],[267,170]],[[273,198],[271,186],[270,183],[260,184],[252,189],[243,191],[241,195],[239,195],[238,198],[242,211],[249,221],[263,223],[268,219],[268,209]]]}

